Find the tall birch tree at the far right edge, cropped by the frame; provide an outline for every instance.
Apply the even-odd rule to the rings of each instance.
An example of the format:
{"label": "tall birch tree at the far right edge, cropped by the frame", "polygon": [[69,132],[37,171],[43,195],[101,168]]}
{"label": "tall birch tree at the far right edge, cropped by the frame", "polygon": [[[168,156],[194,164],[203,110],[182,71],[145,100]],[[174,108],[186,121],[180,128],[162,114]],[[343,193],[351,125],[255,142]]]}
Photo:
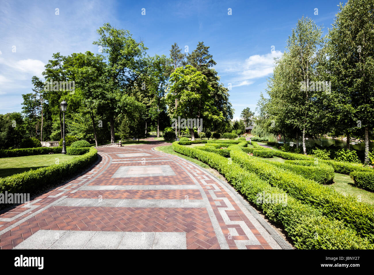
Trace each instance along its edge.
{"label": "tall birch tree at the far right edge, cropped by the frame", "polygon": [[[328,33],[328,63],[336,83],[338,117],[346,131],[364,129],[365,163],[369,163],[369,132],[374,127],[374,1],[349,0]],[[353,121],[352,121],[353,120]]]}

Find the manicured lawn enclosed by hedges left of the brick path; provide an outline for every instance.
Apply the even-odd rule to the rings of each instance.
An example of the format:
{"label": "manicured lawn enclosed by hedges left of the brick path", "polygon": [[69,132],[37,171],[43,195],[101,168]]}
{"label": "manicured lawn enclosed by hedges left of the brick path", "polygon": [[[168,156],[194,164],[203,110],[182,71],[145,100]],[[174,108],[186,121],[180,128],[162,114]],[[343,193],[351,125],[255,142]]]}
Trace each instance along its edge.
{"label": "manicured lawn enclosed by hedges left of the brick path", "polygon": [[48,154],[16,158],[0,158],[0,178],[9,177],[14,174],[29,171],[30,169],[37,169],[56,164],[56,161],[61,163],[74,157],[76,156]]}

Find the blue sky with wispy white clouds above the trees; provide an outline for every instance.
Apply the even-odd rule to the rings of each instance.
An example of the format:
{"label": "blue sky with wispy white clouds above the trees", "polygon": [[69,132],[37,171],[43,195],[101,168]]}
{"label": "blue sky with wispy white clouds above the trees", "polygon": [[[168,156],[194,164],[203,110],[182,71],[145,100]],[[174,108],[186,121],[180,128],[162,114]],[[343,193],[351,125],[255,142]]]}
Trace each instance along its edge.
{"label": "blue sky with wispy white clouds above the trees", "polygon": [[[182,49],[188,46],[190,53],[199,41],[210,46],[220,81],[226,87],[232,85],[230,101],[234,117],[239,117],[246,107],[255,110],[272,74],[273,58],[284,52],[297,19],[309,16],[323,25],[326,33],[338,4],[335,0],[1,0],[0,113],[22,110],[21,95],[32,92],[31,77],[42,78],[44,65],[53,53],[99,53],[92,45],[98,39],[96,30],[110,22],[144,40],[149,55],[169,56],[174,42]],[[145,15],[141,15],[142,8]],[[232,15],[228,15],[229,8]],[[318,15],[314,15],[315,8]]]}

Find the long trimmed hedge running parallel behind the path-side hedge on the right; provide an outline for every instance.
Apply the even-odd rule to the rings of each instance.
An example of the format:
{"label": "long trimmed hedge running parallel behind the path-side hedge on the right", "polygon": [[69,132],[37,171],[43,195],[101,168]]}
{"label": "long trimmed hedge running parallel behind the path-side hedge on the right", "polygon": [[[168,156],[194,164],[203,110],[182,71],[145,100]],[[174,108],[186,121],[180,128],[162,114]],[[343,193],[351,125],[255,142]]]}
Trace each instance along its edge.
{"label": "long trimmed hedge running parallel behind the path-side hedge on the right", "polygon": [[[230,157],[243,169],[254,172],[273,186],[282,188],[296,199],[321,210],[330,219],[343,221],[359,235],[374,241],[374,207],[344,196],[328,186],[308,180],[291,171],[277,168],[268,161],[250,157],[241,150],[231,150]],[[265,165],[266,164],[266,165]]]}

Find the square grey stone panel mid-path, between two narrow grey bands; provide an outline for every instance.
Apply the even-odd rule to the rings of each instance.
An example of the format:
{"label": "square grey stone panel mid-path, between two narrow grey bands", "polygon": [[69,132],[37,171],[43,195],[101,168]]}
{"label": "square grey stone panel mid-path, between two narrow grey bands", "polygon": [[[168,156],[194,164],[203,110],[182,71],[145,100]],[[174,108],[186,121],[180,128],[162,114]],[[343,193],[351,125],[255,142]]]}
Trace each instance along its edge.
{"label": "square grey stone panel mid-path, between two narrow grey bands", "polygon": [[112,178],[175,176],[170,165],[121,166]]}

